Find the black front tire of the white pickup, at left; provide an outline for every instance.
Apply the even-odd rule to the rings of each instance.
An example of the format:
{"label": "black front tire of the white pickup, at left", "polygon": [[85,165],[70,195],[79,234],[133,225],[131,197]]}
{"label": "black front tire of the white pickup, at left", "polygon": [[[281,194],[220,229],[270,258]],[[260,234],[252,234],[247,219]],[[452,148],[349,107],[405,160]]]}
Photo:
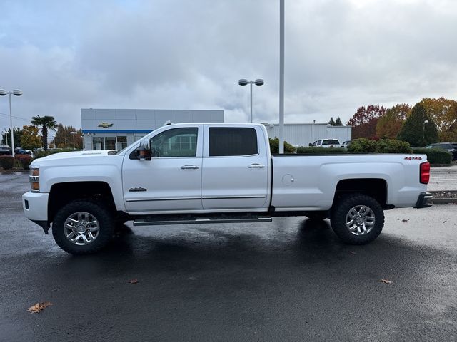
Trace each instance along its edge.
{"label": "black front tire of the white pickup, at left", "polygon": [[[78,212],[84,212],[81,217],[83,221],[79,222],[81,224],[76,224],[71,221],[71,217],[76,218]],[[90,222],[89,222],[90,217]],[[66,237],[66,234],[73,234],[69,225],[65,226],[65,223],[69,219],[71,224],[74,224],[74,240],[76,242],[71,242],[69,238]],[[96,224],[90,224],[91,222],[95,222]],[[86,222],[86,224],[84,224]],[[86,232],[78,232],[76,229],[81,227],[87,227]],[[96,234],[91,233],[91,242],[85,242],[86,240],[82,235],[87,234],[90,229],[96,229]],[[54,240],[59,245],[61,249],[64,249],[65,252],[69,252],[71,254],[91,254],[95,252],[99,252],[100,249],[108,244],[109,240],[113,236],[114,233],[114,219],[109,212],[108,209],[104,206],[101,202],[96,202],[90,199],[77,199],[74,202],[70,202],[62,207],[59,212],[57,212],[56,216],[54,217],[54,222],[52,224],[52,235],[54,236]],[[78,238],[79,234],[81,234],[80,238]],[[76,235],[76,237],[75,237]],[[80,244],[76,244],[80,243]]]}

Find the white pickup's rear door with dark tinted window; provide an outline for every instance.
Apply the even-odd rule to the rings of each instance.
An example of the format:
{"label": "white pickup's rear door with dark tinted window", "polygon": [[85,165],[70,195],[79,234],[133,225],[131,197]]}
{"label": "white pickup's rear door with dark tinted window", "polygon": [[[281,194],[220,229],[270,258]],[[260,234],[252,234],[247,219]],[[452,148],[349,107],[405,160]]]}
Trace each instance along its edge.
{"label": "white pickup's rear door with dark tinted window", "polygon": [[259,209],[268,197],[269,158],[258,126],[204,125],[204,209]]}

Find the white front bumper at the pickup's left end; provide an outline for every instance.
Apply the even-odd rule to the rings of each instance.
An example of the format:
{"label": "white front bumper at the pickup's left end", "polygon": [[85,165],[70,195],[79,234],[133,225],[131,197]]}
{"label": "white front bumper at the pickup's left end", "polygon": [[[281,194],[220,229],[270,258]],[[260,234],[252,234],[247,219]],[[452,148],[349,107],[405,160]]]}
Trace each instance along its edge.
{"label": "white front bumper at the pickup's left end", "polygon": [[22,208],[24,214],[32,222],[41,226],[48,234],[48,199],[49,194],[41,192],[26,192],[22,195]]}

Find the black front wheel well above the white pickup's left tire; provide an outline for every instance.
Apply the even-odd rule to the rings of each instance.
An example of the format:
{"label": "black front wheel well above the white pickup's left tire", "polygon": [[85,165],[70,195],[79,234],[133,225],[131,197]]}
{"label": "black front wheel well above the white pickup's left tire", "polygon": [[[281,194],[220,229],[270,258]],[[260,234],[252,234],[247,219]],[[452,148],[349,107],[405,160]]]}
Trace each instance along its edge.
{"label": "black front wheel well above the white pickup's left tire", "polygon": [[111,188],[106,182],[66,182],[54,184],[49,193],[48,222],[65,204],[74,199],[96,199],[104,202],[106,207],[116,211]]}

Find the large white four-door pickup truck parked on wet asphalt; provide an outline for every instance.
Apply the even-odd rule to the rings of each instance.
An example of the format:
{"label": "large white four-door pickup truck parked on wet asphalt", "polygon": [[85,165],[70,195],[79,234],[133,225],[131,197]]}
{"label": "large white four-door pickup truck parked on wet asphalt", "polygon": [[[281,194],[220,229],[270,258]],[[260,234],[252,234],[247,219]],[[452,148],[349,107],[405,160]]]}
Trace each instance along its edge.
{"label": "large white four-door pickup truck parked on wet asphalt", "polygon": [[426,155],[274,155],[263,125],[167,125],[119,152],[31,163],[26,217],[66,252],[89,254],[135,226],[330,217],[348,244],[383,229],[383,209],[429,207]]}

